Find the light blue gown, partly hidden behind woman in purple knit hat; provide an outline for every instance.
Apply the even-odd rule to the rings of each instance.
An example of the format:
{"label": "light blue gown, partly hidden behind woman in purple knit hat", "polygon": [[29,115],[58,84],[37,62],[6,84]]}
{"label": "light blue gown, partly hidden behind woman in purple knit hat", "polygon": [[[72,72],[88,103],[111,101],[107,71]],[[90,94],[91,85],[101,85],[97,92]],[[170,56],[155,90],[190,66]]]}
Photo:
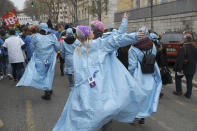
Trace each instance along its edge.
{"label": "light blue gown, partly hidden behind woman in purple knit hat", "polygon": [[64,73],[73,74],[73,53],[75,48],[80,44],[79,40],[75,40],[73,44],[68,44],[62,41],[61,56],[65,60]]}

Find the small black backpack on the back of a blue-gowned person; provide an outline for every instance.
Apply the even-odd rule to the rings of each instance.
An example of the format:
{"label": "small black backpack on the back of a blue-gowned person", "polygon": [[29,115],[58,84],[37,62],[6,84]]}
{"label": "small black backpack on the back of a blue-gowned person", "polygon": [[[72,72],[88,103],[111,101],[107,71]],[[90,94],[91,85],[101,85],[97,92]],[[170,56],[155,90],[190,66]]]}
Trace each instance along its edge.
{"label": "small black backpack on the back of a blue-gowned person", "polygon": [[152,54],[152,50],[146,51],[146,53],[143,52],[143,54],[144,54],[144,57],[142,59],[142,62],[140,63],[142,73],[143,74],[154,73],[154,71],[155,71],[154,64],[156,61],[156,56],[154,54]]}

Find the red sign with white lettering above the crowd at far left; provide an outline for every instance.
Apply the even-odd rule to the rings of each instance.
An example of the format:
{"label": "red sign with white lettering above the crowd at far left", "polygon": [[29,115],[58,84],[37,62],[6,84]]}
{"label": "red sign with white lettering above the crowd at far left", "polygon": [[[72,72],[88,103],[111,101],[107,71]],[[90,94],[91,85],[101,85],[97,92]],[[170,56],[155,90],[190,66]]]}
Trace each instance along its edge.
{"label": "red sign with white lettering above the crowd at far left", "polygon": [[9,27],[10,25],[19,25],[16,11],[13,9],[4,16],[2,16],[4,23]]}

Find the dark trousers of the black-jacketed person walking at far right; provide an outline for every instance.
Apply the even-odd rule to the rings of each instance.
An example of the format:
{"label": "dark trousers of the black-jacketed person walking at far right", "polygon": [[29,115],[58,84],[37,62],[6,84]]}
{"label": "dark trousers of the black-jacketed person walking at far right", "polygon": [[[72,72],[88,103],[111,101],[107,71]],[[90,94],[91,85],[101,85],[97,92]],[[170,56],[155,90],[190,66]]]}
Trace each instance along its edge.
{"label": "dark trousers of the black-jacketed person walking at far right", "polygon": [[[183,76],[178,76],[175,73],[175,83],[176,83],[176,91],[177,92],[182,92],[182,78]],[[187,81],[187,92],[186,96],[191,96],[192,95],[192,80],[193,80],[193,75],[185,75],[186,81]]]}

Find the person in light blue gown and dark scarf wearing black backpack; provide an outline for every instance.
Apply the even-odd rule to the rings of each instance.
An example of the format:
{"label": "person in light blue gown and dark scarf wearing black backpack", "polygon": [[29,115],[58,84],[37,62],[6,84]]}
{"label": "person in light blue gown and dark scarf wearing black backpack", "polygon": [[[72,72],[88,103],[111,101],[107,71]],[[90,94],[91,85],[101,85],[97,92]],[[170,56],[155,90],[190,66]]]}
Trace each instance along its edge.
{"label": "person in light blue gown and dark scarf wearing black backpack", "polygon": [[156,57],[156,48],[151,40],[156,39],[157,36],[150,33],[149,38],[143,42],[140,41],[132,45],[129,49],[129,66],[128,70],[135,79],[138,87],[144,91],[147,95],[146,100],[142,104],[142,109],[136,118],[140,118],[139,124],[144,124],[146,117],[152,115],[157,111],[159,95],[161,92],[162,81],[160,76],[160,70],[155,62],[153,64],[153,73],[144,74],[142,73],[141,64],[144,54],[151,53]]}

